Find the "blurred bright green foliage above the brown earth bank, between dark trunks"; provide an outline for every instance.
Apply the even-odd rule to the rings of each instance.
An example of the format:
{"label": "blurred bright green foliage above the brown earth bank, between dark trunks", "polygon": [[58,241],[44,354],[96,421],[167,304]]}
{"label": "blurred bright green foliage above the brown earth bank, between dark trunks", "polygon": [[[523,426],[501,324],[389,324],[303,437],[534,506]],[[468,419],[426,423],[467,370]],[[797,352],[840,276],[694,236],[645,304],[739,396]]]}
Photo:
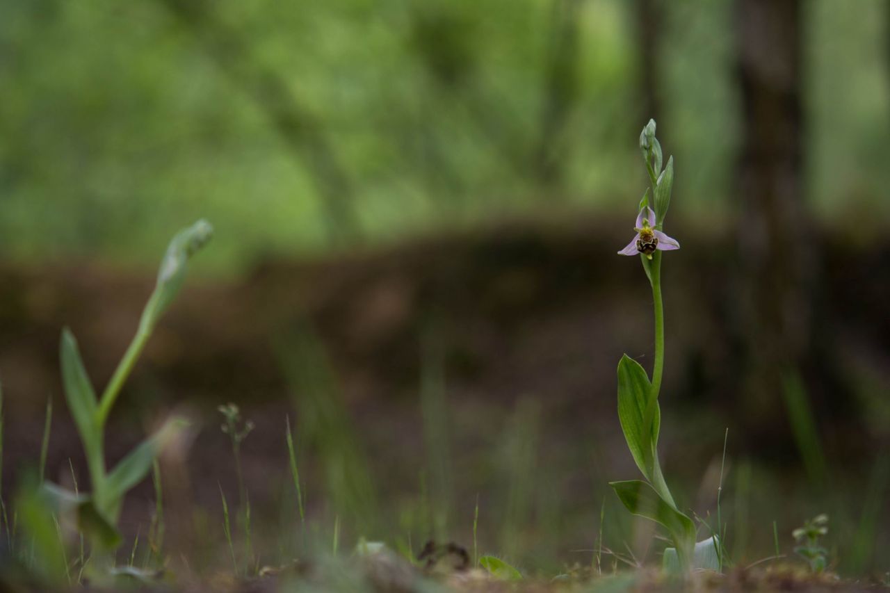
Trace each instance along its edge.
{"label": "blurred bright green foliage above the brown earth bank, between dark trunks", "polygon": [[[650,114],[633,2],[181,3],[202,7],[193,20],[169,4],[4,2],[4,259],[153,264],[159,236],[205,216],[238,238],[208,254],[232,272],[340,235],[391,241],[639,197]],[[806,201],[821,221],[877,232],[890,213],[886,2],[804,5]],[[672,218],[717,226],[740,134],[732,3],[660,12],[652,115],[676,156]],[[564,104],[548,126],[554,84]],[[277,123],[279,108],[299,125]]]}

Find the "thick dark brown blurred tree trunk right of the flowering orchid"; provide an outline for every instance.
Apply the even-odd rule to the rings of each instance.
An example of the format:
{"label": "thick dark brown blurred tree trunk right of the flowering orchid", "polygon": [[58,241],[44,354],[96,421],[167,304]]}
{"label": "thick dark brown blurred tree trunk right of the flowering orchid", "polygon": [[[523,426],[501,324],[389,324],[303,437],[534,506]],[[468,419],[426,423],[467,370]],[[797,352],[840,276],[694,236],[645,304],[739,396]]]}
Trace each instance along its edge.
{"label": "thick dark brown blurred tree trunk right of the flowering orchid", "polygon": [[761,443],[787,434],[777,421],[783,417],[782,377],[812,360],[813,352],[818,246],[804,199],[802,4],[736,0],[734,7],[742,108],[733,287],[742,378],[737,393],[745,430]]}

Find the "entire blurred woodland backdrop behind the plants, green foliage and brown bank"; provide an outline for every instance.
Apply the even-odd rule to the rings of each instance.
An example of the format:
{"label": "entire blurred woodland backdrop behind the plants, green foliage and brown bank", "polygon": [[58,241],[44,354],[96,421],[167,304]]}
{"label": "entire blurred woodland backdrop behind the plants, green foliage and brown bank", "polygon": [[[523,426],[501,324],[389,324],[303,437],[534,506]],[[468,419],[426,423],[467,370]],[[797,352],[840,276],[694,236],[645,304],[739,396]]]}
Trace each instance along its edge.
{"label": "entire blurred woodland backdrop behind the plants, green foliage and brown bank", "polygon": [[[636,477],[614,365],[648,368],[651,295],[614,252],[651,117],[684,244],[665,264],[668,482],[713,512],[728,426],[735,557],[772,554],[773,520],[789,551],[827,511],[847,574],[886,572],[886,0],[4,0],[5,467],[39,451],[61,326],[101,385],[166,240],[204,217],[203,278],[109,435],[125,451],[159,402],[196,406],[181,549],[222,541],[215,406],[234,401],[258,426],[258,530],[295,524],[291,413],[316,534],[337,516],[349,537],[469,544],[481,500],[486,551],[556,571],[589,562],[573,550],[605,500],[608,544],[644,554],[605,484]],[[82,471],[63,407],[53,478]]]}

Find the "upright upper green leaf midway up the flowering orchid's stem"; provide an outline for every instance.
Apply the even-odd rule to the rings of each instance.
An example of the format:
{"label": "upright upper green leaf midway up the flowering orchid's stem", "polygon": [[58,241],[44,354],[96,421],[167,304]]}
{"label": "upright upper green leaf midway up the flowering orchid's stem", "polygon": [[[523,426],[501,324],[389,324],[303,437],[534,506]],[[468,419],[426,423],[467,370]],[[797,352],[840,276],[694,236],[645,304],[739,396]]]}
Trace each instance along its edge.
{"label": "upright upper green leaf midway up the flowering orchid's stem", "polygon": [[618,416],[621,430],[636,466],[649,480],[652,480],[654,451],[661,426],[658,402],[654,403],[650,429],[646,430],[643,426],[651,392],[651,383],[643,367],[627,354],[622,356],[618,364]]}

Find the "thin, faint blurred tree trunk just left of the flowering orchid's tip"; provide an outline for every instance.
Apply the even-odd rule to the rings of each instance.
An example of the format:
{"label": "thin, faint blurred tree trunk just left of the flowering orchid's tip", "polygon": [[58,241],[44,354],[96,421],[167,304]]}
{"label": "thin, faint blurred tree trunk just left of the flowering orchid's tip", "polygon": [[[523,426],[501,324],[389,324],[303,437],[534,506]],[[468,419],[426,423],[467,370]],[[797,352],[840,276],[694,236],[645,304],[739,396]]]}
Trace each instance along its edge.
{"label": "thin, faint blurred tree trunk just left of the flowering orchid's tip", "polygon": [[538,183],[562,183],[562,133],[578,96],[578,7],[581,0],[553,0],[541,131],[534,154]]}

